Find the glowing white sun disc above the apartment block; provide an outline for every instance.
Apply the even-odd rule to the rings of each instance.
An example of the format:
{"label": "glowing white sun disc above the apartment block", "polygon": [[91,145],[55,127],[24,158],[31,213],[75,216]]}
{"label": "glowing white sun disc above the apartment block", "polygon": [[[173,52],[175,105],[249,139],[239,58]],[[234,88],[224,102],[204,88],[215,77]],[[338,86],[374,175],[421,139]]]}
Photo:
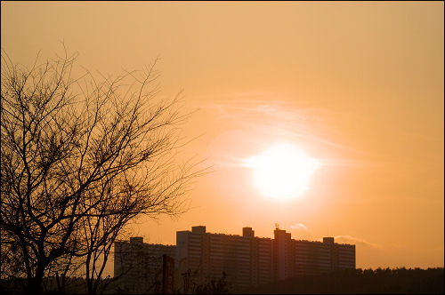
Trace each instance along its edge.
{"label": "glowing white sun disc above the apartment block", "polygon": [[320,163],[290,144],[279,144],[247,159],[255,186],[263,195],[279,199],[302,195]]}

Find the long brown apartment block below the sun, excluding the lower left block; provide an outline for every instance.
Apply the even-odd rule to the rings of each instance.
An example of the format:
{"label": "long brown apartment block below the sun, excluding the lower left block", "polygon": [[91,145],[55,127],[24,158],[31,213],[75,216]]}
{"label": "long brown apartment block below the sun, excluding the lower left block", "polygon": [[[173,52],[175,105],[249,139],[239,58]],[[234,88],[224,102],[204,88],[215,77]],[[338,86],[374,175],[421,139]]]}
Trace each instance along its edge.
{"label": "long brown apartment block below the sun, excluding the lower left block", "polygon": [[299,275],[319,275],[355,268],[355,245],[294,240],[276,228],[274,238],[256,237],[251,227],[243,235],[206,233],[206,227],[176,232],[178,273],[189,271],[193,283],[206,283],[225,273],[231,291]]}

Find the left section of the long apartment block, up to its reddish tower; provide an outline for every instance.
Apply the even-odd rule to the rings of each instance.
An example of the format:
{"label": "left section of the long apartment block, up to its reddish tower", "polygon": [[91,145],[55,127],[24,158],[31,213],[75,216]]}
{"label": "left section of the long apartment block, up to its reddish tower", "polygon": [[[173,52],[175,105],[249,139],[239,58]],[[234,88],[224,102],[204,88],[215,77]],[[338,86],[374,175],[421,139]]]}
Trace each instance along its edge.
{"label": "left section of the long apartment block, up to its reddish tower", "polygon": [[223,273],[232,290],[273,280],[272,240],[255,237],[251,227],[243,235],[206,233],[206,227],[176,232],[178,271],[192,270],[198,283],[217,280]]}

